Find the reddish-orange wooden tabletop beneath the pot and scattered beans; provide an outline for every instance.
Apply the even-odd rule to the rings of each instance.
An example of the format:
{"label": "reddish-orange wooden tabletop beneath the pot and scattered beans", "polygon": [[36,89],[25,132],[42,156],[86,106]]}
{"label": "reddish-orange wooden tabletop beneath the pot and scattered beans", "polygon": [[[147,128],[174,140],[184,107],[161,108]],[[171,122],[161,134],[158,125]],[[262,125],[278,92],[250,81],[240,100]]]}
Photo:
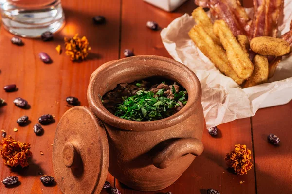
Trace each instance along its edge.
{"label": "reddish-orange wooden tabletop beneath the pot and scattered beans", "polygon": [[[54,41],[23,38],[25,45],[11,44],[9,34],[0,29],[0,86],[16,84],[18,91],[0,97],[7,102],[0,107],[0,129],[21,142],[30,142],[33,157],[30,166],[14,170],[0,162],[0,179],[18,176],[20,185],[6,188],[0,185],[0,194],[60,194],[57,184],[45,187],[38,172],[53,175],[52,143],[56,125],[70,107],[67,96],[78,97],[81,105],[88,106],[86,92],[91,73],[105,62],[123,58],[124,49],[133,49],[135,55],[154,54],[170,57],[165,50],[160,32],[146,28],[146,21],[153,20],[166,27],[173,19],[190,14],[195,8],[189,0],[173,13],[164,12],[142,0],[62,0],[66,16],[65,27],[55,35]],[[105,25],[93,25],[91,18],[103,15]],[[63,37],[85,35],[91,45],[88,60],[70,61],[64,53],[58,55],[55,47],[63,45]],[[48,53],[53,63],[46,65],[38,58],[39,52]],[[15,106],[16,97],[26,99],[31,108]],[[44,126],[43,136],[36,136],[33,125],[43,114],[54,114],[55,123]],[[28,115],[31,123],[19,127],[16,120]],[[17,132],[13,128],[18,128]],[[283,106],[264,108],[251,118],[239,119],[219,125],[219,137],[211,137],[204,130],[202,142],[205,150],[185,173],[170,187],[158,192],[134,191],[122,185],[110,174],[108,181],[122,194],[206,194],[214,188],[221,194],[291,194],[292,193],[292,102]],[[268,134],[281,138],[280,146],[267,143]],[[247,175],[234,175],[228,171],[224,157],[234,145],[246,144],[253,153],[254,167]],[[44,155],[40,155],[40,152]],[[243,183],[240,184],[240,181]],[[107,194],[107,191],[102,191]]]}

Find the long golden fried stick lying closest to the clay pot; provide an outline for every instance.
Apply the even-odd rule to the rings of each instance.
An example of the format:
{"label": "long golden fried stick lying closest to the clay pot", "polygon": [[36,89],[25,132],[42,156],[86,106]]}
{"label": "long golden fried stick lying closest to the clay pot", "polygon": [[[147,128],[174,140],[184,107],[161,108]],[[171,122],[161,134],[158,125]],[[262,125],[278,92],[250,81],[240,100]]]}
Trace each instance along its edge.
{"label": "long golden fried stick lying closest to the clay pot", "polygon": [[244,79],[239,78],[231,68],[223,48],[213,41],[200,24],[195,25],[188,35],[219,71],[232,78],[238,85],[243,83]]}

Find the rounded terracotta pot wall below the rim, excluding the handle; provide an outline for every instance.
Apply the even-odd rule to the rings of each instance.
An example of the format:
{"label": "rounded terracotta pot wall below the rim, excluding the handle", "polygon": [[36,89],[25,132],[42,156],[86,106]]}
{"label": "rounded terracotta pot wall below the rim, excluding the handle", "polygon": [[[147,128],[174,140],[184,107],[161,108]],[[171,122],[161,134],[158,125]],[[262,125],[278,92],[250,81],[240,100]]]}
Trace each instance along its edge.
{"label": "rounded terracotta pot wall below the rim, excluding the handle", "polygon": [[198,109],[197,114],[182,123],[156,131],[126,131],[105,123],[110,148],[110,174],[140,191],[157,191],[174,183],[195,156],[180,156],[163,169],[153,165],[153,158],[181,138],[201,140],[204,118],[202,110]]}

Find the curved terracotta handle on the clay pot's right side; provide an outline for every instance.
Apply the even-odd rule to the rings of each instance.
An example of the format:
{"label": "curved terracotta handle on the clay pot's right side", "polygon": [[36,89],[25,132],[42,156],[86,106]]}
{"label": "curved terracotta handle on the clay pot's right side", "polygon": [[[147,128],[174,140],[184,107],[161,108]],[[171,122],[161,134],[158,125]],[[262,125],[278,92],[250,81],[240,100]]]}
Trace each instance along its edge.
{"label": "curved terracotta handle on the clay pot's right side", "polygon": [[204,146],[197,138],[180,138],[158,152],[152,159],[157,168],[167,168],[172,162],[186,154],[201,155]]}

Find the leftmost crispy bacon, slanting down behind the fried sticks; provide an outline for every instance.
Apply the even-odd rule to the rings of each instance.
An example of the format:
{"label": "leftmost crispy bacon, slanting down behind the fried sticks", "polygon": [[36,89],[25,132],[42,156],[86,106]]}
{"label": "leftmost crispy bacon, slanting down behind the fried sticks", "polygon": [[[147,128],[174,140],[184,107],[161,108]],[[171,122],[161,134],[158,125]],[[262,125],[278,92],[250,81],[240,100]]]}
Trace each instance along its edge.
{"label": "leftmost crispy bacon, slanting down behind the fried sticks", "polygon": [[198,6],[210,8],[215,18],[223,19],[232,33],[251,37],[250,18],[237,0],[195,0]]}

